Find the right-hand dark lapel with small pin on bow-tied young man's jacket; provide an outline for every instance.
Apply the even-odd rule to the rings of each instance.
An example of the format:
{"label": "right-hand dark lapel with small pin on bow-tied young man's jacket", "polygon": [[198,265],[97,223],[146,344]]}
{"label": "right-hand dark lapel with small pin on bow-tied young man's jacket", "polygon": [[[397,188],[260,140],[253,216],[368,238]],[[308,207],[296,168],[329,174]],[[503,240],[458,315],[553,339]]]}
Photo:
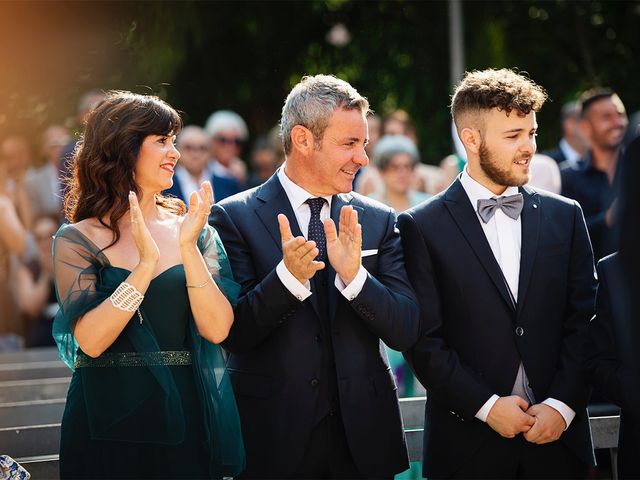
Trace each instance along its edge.
{"label": "right-hand dark lapel with small pin on bow-tied young man's jacket", "polygon": [[540,233],[540,201],[537,193],[529,187],[521,187],[524,198],[520,222],[522,226],[522,243],[520,247],[520,276],[518,280],[518,314],[526,299],[527,288],[533,271],[533,261],[538,250]]}

